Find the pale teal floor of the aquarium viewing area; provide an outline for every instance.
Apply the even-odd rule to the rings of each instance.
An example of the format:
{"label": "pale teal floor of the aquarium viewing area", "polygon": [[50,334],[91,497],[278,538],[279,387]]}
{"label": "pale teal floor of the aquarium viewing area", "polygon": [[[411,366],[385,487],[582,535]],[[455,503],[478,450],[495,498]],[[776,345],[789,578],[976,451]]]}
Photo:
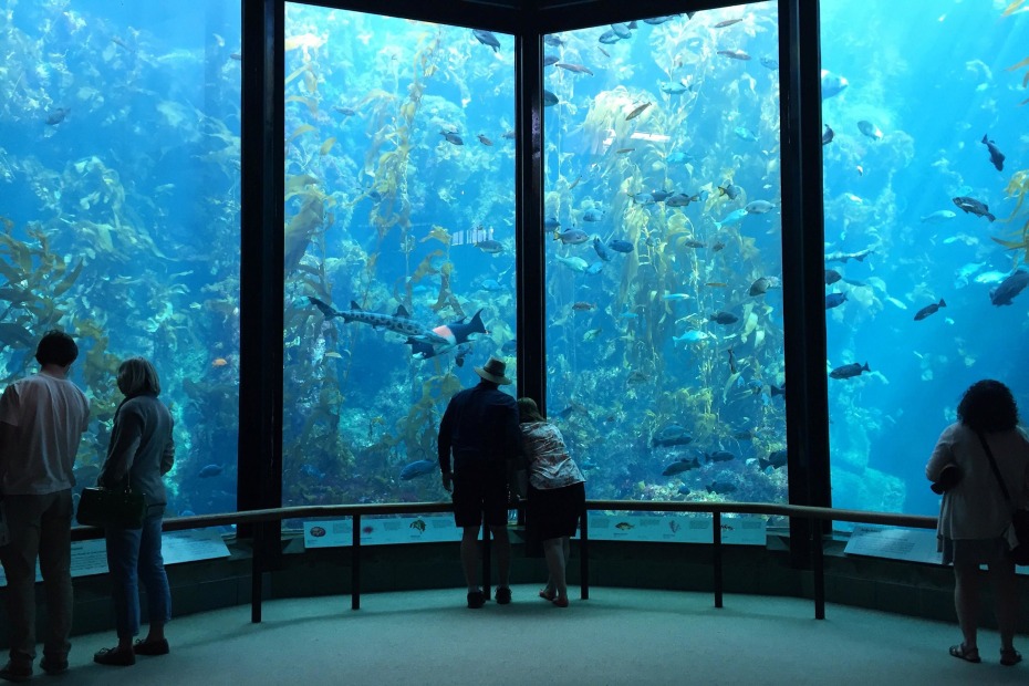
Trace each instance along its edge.
{"label": "pale teal floor of the aquarium viewing area", "polygon": [[[578,592],[578,589],[575,590]],[[426,686],[532,684],[1026,684],[1029,662],[998,664],[997,634],[984,632],[983,664],[950,657],[956,626],[810,601],[591,589],[569,609],[514,586],[514,601],[471,611],[464,589],[323,596],[177,619],[172,654],[133,667],[102,667],[94,651],[113,634],[73,640],[71,669],[33,683],[74,686]],[[573,596],[574,597],[574,596]],[[1018,643],[1017,643],[1018,645]],[[1023,651],[1029,643],[1020,642]]]}

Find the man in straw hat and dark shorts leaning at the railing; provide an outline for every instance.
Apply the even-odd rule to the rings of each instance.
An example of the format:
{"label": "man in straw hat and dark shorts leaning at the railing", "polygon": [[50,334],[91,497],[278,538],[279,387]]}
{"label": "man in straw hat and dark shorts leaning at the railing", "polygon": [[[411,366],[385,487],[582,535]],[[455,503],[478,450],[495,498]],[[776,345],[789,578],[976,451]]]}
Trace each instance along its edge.
{"label": "man in straw hat and dark shorts leaning at the railing", "polygon": [[[454,521],[462,529],[461,567],[468,582],[468,606],[481,607],[486,595],[477,582],[478,538],[482,518],[497,549],[497,603],[511,602],[511,542],[508,539],[508,461],[521,455],[518,405],[500,391],[511,383],[507,365],[490,357],[476,374],[481,381],[450,398],[439,423],[443,487],[454,495]],[[454,468],[450,468],[450,454]]]}

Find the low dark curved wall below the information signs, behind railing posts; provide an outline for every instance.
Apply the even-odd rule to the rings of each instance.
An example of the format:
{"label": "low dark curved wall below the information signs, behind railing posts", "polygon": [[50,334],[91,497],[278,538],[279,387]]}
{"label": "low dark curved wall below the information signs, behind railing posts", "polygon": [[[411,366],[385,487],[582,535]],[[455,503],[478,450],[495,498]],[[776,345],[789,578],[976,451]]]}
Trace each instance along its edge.
{"label": "low dark curved wall below the information signs, behind railing posts", "polygon": [[[340,613],[351,612],[351,549],[302,551],[294,541],[282,555],[281,569],[266,572],[266,599],[334,595]],[[882,612],[956,623],[953,573],[947,568],[892,560],[844,557],[843,544],[830,543],[825,557],[825,600]],[[226,560],[177,564],[168,568],[174,616],[206,612],[250,602],[250,551],[243,542],[230,543]],[[710,545],[662,543],[590,542],[591,596],[603,586],[713,591]],[[732,605],[732,594],[813,597],[812,573],[790,568],[784,540],[770,537],[765,548],[726,547],[724,554],[724,604]],[[361,559],[361,603],[375,603],[374,594],[418,589],[455,589],[455,602],[464,602],[464,579],[456,543],[367,547]],[[526,558],[514,545],[511,579],[514,584],[542,585],[542,559]],[[578,544],[572,545],[569,584],[580,584]],[[984,574],[985,578],[985,574]],[[75,580],[73,634],[112,631],[114,615],[106,575]],[[1029,580],[1019,578],[1021,591],[1020,632],[1029,632]],[[6,590],[0,589],[0,599]],[[575,590],[572,590],[575,593]],[[343,597],[346,596],[346,597]],[[517,599],[516,599],[517,600]],[[713,601],[714,603],[714,595]],[[992,627],[988,595],[984,597],[980,625]],[[42,586],[38,585],[38,607],[42,610]],[[814,616],[812,603],[811,614]],[[832,607],[827,610],[831,617]],[[8,623],[0,604],[0,649],[8,646]],[[145,604],[144,604],[145,620]],[[40,612],[39,627],[45,626]]]}

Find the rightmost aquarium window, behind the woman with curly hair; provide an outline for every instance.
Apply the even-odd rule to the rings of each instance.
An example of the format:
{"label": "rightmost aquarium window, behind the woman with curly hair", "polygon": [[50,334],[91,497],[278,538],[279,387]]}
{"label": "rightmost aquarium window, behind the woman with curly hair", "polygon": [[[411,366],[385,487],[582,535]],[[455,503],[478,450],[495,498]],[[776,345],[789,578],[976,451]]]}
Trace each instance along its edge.
{"label": "rightmost aquarium window, behind the woman with curly hair", "polygon": [[821,7],[833,506],[935,514],[925,464],[965,388],[1029,407],[1029,17]]}

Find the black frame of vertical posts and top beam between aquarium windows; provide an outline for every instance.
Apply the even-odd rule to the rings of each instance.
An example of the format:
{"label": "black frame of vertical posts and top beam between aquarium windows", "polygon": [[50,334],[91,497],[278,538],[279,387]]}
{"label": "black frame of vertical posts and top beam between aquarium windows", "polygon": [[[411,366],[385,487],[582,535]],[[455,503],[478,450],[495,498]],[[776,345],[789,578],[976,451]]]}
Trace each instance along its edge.
{"label": "black frame of vertical posts and top beam between aquarium windows", "polygon": [[[544,402],[542,38],[548,33],[740,4],[636,0],[308,0],[308,4],[481,28],[514,37],[518,388]],[[282,505],[284,0],[242,0],[242,243],[239,509]],[[778,0],[782,271],[789,501],[831,506],[818,0]],[[828,523],[828,522],[827,522]],[[278,522],[256,544],[278,550]],[[241,532],[247,534],[246,531]],[[812,536],[791,524],[794,563]]]}

